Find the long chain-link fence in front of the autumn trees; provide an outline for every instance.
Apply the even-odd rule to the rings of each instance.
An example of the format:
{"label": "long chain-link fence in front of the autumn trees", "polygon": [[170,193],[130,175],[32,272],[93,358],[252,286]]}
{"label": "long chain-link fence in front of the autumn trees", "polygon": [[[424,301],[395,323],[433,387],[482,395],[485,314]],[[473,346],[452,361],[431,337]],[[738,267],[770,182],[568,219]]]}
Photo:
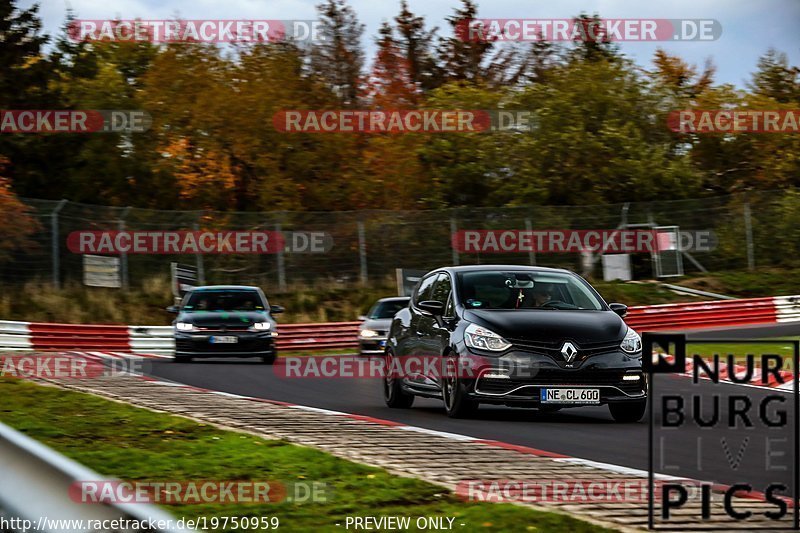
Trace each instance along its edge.
{"label": "long chain-link fence in front of the autumn trees", "polygon": [[[680,254],[682,270],[715,271],[796,266],[800,263],[800,194],[794,190],[664,202],[596,206],[520,206],[438,211],[210,212],[85,205],[22,199],[28,207],[6,220],[27,235],[6,243],[0,274],[7,284],[51,280],[80,282],[82,256],[69,251],[73,232],[242,230],[324,232],[325,253],[128,254],[120,257],[123,287],[167,276],[170,263],[197,267],[205,283],[255,284],[282,289],[292,283],[385,281],[397,268],[426,270],[448,264],[536,264],[602,276],[600,261],[576,253],[461,253],[453,237],[462,230],[582,230],[677,226],[710,231],[711,250]],[[13,232],[12,232],[13,240]],[[657,257],[632,254],[634,277],[656,275]],[[663,263],[663,261],[662,261]],[[661,265],[662,270],[664,265]],[[673,269],[674,270],[674,269]],[[680,273],[669,268],[662,273]]]}

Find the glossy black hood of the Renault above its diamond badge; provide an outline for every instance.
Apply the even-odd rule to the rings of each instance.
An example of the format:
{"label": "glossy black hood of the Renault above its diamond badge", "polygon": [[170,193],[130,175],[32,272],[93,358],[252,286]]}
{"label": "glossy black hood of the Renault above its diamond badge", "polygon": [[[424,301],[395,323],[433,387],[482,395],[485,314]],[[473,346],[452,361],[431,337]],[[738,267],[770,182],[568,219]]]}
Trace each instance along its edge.
{"label": "glossy black hood of the Renault above its diamond badge", "polygon": [[550,311],[537,309],[470,309],[464,318],[506,339],[578,343],[622,340],[627,326],[613,311]]}

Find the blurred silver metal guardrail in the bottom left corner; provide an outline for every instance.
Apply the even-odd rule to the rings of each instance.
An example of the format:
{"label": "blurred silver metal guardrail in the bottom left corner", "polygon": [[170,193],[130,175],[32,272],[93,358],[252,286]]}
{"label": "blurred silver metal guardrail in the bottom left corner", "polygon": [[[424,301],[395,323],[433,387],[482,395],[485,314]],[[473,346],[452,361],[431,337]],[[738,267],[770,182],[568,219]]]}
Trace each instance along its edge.
{"label": "blurred silver metal guardrail in the bottom left corner", "polygon": [[[104,520],[177,524],[172,516],[150,504],[74,501],[69,496],[74,483],[107,479],[4,424],[0,424],[0,472],[0,515],[9,522],[16,518],[18,524],[29,521],[29,531],[89,531],[88,521]],[[65,525],[65,520],[73,522]],[[74,522],[80,520],[83,528]]]}

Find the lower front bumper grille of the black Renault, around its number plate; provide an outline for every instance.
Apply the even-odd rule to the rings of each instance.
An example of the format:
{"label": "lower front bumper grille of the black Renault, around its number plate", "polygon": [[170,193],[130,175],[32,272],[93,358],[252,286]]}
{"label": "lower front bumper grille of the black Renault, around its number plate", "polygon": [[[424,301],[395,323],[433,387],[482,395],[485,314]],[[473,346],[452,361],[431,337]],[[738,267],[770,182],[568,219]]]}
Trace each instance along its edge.
{"label": "lower front bumper grille of the black Renault, around its number plate", "polygon": [[[644,385],[644,376],[639,381],[623,381],[624,372],[620,371],[593,371],[593,372],[564,372],[558,370],[541,370],[535,376],[526,378],[486,378],[478,379],[476,388],[481,392],[503,394],[525,385],[556,385],[556,386],[613,386],[627,394],[640,394]],[[526,394],[533,392],[528,389]]]}

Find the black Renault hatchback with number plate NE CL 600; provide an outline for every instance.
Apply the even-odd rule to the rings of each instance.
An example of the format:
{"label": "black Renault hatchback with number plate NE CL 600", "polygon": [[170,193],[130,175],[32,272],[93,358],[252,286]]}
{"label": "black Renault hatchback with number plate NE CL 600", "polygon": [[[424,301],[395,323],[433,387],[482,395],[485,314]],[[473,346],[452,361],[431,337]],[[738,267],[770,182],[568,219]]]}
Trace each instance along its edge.
{"label": "black Renault hatchback with number plate NE CL 600", "polygon": [[[439,358],[445,372],[387,372],[384,399],[408,408],[441,398],[451,417],[481,403],[558,410],[608,405],[619,422],[642,418],[642,343],[583,278],[561,269],[463,266],[426,274],[389,331],[387,368]],[[398,364],[400,362],[400,364]],[[425,367],[426,369],[428,367]]]}

